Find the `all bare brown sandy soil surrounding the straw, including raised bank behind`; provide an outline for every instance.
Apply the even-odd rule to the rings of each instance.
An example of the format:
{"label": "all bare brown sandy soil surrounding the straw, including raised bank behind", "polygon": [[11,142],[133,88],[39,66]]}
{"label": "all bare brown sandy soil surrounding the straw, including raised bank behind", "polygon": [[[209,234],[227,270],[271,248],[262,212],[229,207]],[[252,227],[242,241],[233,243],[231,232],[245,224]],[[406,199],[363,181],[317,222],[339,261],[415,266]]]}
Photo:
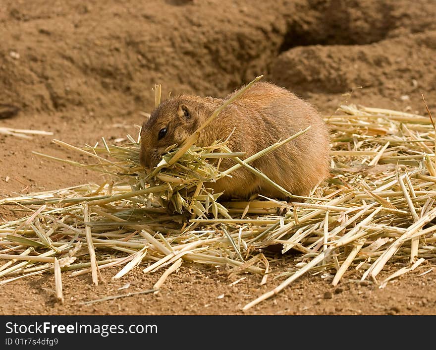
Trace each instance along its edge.
{"label": "all bare brown sandy soil surrounding the straw, including raised bank behind", "polygon": [[[436,110],[433,0],[2,4],[0,104],[19,112],[0,119],[0,126],[52,131],[54,138],[76,145],[134,134],[140,112],[154,105],[155,83],[163,84],[163,94],[221,97],[264,74],[325,114],[344,102],[424,114],[421,94]],[[2,111],[0,117],[6,117]],[[100,175],[31,153],[63,155],[51,140],[0,135],[0,196],[99,181]],[[0,221],[20,215],[0,207]],[[289,261],[283,257],[276,273]],[[419,276],[432,268],[423,265],[382,290],[356,282],[354,275],[336,288],[328,278],[306,276],[248,313],[435,314],[435,271]],[[156,295],[81,304],[147,290],[159,278],[138,269],[111,281],[113,274],[104,270],[106,283],[98,287],[91,286],[90,276],[64,274],[64,305],[54,302],[52,275],[1,286],[0,297],[8,302],[0,304],[0,313],[239,314],[241,306],[280,281],[270,278],[260,287],[257,276],[246,275],[229,286],[234,280],[223,268],[184,265]],[[126,283],[130,287],[118,291]]]}

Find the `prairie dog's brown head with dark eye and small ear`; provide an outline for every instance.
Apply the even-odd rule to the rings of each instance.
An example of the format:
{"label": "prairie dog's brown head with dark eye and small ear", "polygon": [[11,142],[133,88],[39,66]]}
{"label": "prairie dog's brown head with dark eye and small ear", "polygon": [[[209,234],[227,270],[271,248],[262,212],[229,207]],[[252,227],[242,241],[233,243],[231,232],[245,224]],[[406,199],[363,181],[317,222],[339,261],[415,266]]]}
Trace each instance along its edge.
{"label": "prairie dog's brown head with dark eye and small ear", "polygon": [[199,112],[189,96],[179,96],[161,103],[141,128],[141,165],[154,168],[168,146],[180,146],[197,129]]}

